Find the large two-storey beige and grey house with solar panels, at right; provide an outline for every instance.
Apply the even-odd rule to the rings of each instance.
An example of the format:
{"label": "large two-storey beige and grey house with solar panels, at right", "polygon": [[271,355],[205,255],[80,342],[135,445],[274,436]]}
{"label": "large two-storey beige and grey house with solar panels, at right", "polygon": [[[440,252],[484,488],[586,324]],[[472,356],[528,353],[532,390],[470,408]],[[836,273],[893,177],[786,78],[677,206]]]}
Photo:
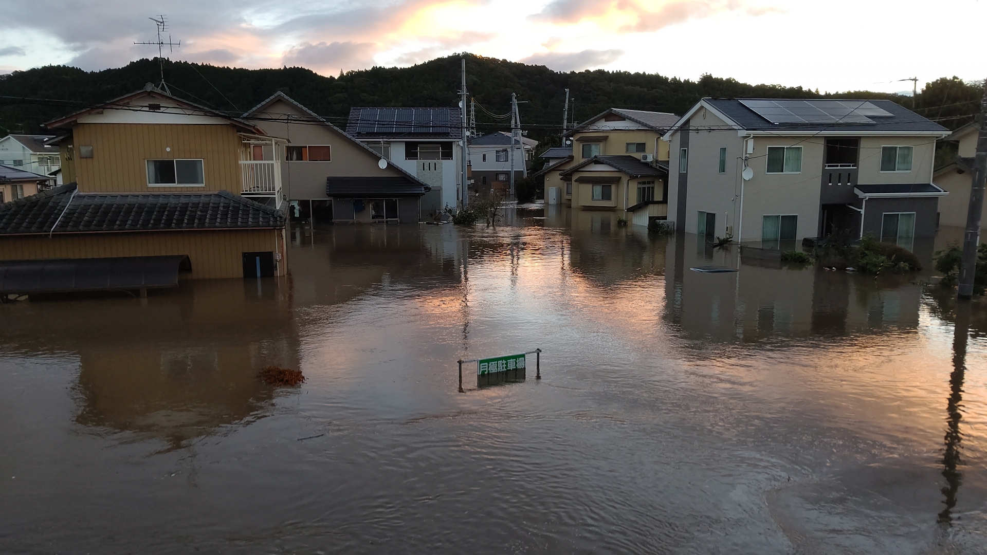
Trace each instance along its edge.
{"label": "large two-storey beige and grey house with solar panels, at right", "polygon": [[910,245],[936,233],[948,134],[890,101],[703,99],[665,135],[668,219],[767,247],[840,229]]}

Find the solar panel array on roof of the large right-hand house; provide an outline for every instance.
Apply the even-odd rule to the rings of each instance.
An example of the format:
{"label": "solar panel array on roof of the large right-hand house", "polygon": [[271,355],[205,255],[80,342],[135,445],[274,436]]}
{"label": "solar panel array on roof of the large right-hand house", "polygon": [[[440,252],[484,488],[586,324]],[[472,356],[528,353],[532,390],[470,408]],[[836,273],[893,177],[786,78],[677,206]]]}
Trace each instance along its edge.
{"label": "solar panel array on roof of the large right-hand house", "polygon": [[[739,100],[739,99],[738,99]],[[739,100],[772,123],[875,123],[890,112],[859,100]]]}

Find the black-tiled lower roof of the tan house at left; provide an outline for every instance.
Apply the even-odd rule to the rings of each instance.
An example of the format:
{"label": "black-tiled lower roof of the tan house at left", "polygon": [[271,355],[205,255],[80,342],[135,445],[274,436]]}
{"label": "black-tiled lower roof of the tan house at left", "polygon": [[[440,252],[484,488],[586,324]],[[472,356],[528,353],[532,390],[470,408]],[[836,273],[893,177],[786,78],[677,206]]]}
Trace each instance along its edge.
{"label": "black-tiled lower roof of the tan house at left", "polygon": [[[57,226],[56,226],[57,223]],[[284,213],[226,191],[76,194],[75,184],[0,204],[0,235],[284,227]]]}

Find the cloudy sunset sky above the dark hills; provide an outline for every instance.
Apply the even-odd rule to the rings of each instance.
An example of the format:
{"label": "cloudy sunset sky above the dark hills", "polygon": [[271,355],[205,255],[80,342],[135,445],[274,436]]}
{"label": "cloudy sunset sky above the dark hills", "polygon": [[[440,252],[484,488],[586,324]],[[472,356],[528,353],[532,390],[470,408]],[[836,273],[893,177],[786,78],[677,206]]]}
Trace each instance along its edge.
{"label": "cloudy sunset sky above the dark hills", "polygon": [[0,72],[46,64],[117,67],[157,54],[237,67],[301,65],[324,75],[407,66],[469,51],[558,70],[604,68],[822,91],[911,89],[943,76],[983,79],[987,1],[941,0],[210,0],[10,2]]}

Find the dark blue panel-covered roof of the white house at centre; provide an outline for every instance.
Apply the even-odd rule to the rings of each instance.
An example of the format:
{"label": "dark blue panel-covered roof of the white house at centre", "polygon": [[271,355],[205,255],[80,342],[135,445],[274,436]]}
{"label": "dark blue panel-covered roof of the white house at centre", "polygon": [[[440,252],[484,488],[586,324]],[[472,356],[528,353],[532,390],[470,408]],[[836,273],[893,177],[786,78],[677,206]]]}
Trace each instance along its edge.
{"label": "dark blue panel-covered roof of the white house at centre", "polygon": [[458,108],[350,108],[346,132],[359,140],[462,137]]}

